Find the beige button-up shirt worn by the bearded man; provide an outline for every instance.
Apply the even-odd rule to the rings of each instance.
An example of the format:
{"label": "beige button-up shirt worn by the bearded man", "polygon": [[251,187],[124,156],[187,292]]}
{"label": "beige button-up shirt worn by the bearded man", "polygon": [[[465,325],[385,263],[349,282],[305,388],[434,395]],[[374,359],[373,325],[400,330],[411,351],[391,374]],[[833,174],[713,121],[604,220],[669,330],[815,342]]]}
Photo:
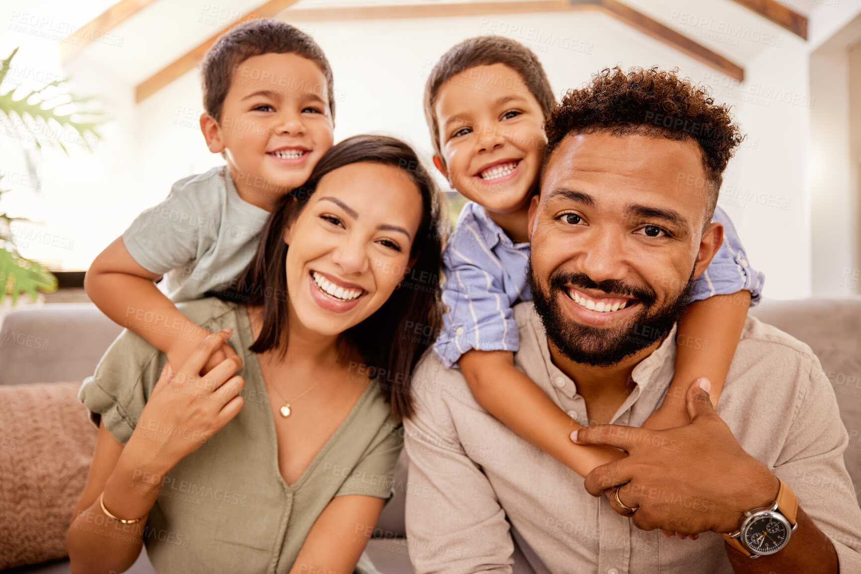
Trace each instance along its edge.
{"label": "beige button-up shirt worn by the bearded man", "polygon": [[[585,401],[555,367],[531,303],[515,307],[517,367],[581,424]],[[639,427],[672,379],[673,336],[631,373],[635,389],[611,423]],[[428,353],[413,379],[406,424],[410,555],[423,572],[731,572],[718,534],[667,539],[636,528],[583,478],[506,428],[475,402],[461,372]],[[841,572],[861,572],[861,509],[846,472],[848,435],[807,345],[748,318],[717,409],[740,445],[790,485],[837,549]],[[673,505],[697,501],[657,500]],[[703,511],[708,511],[703,507]]]}

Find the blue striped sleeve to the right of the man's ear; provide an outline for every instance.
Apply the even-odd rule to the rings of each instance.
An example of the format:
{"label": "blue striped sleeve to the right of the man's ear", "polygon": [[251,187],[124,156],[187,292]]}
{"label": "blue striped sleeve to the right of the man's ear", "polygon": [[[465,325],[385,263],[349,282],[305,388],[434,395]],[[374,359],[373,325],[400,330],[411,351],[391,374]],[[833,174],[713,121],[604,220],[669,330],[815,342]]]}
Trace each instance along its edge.
{"label": "blue striped sleeve to the right of the man's ear", "polygon": [[692,301],[702,301],[715,295],[750,291],[751,305],[759,303],[765,275],[747,260],[744,246],[731,219],[720,207],[715,208],[712,221],[723,225],[723,244],[709,263],[709,268],[694,281]]}

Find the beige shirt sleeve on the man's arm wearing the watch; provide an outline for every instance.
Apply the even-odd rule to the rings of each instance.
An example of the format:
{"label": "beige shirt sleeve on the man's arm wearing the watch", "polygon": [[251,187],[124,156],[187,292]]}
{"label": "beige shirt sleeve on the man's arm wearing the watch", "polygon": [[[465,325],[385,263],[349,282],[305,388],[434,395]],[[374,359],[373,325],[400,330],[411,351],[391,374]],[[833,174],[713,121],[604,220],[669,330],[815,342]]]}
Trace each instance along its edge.
{"label": "beige shirt sleeve on the man's arm wearing the watch", "polygon": [[837,551],[841,572],[861,572],[861,509],[846,472],[849,441],[837,400],[819,361],[808,361],[810,384],[793,417],[774,474],[790,486]]}

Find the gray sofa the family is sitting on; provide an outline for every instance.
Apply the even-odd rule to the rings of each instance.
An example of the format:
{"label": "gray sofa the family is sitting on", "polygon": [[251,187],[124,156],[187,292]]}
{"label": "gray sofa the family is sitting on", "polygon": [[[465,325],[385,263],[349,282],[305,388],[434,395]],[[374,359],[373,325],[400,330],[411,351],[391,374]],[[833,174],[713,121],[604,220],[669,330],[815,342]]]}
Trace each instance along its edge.
{"label": "gray sofa the family is sitting on", "polygon": [[[807,343],[820,357],[850,433],[845,459],[858,492],[861,490],[861,298],[766,301],[754,314]],[[119,332],[118,326],[90,304],[56,304],[11,312],[0,331],[0,385],[83,380],[93,372]],[[9,333],[15,334],[18,343],[3,344],[2,336],[8,342]],[[23,339],[21,334],[25,336]],[[402,456],[395,477],[395,495],[383,511],[375,538],[368,547],[370,557],[384,574],[412,572],[404,527],[404,463]],[[5,572],[68,571],[68,561],[60,560]],[[145,552],[130,572],[152,572]]]}

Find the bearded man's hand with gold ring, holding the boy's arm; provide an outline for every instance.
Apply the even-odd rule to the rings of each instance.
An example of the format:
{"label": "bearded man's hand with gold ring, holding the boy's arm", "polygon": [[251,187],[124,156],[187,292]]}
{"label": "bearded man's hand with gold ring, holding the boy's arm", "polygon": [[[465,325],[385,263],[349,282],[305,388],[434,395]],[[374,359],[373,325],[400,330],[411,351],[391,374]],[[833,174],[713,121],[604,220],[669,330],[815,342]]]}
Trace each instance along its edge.
{"label": "bearded man's hand with gold ring, holding the boy's arm", "polygon": [[[598,466],[585,478],[594,497],[606,494],[610,506],[629,515],[637,528],[680,534],[712,530],[729,533],[750,509],[767,506],[779,483],[768,468],[747,454],[717,416],[709,400],[711,384],[701,379],[687,395],[691,424],[666,430],[615,424],[580,429],[577,444],[622,448],[629,457]],[[631,508],[632,515],[616,503]]]}

